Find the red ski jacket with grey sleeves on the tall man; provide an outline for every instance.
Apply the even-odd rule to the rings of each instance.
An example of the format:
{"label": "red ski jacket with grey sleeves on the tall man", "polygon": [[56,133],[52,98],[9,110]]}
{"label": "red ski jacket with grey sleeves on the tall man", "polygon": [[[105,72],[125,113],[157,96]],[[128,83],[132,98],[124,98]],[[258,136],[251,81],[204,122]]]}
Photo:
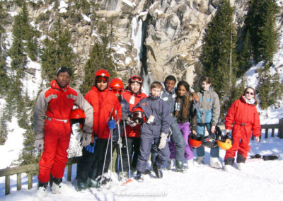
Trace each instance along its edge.
{"label": "red ski jacket with grey sleeves on the tall man", "polygon": [[62,122],[69,122],[70,113],[74,105],[79,106],[86,113],[84,132],[93,132],[93,108],[83,98],[83,95],[69,84],[64,88],[58,86],[57,81],[50,82],[50,88],[43,90],[35,103],[33,113],[35,139],[44,137],[45,119],[49,117]]}

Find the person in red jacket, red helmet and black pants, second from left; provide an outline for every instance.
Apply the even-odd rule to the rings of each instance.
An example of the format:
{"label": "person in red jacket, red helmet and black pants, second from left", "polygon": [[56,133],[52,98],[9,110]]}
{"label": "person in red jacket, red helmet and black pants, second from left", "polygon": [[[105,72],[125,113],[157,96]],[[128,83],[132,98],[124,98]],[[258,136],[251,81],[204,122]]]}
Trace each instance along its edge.
{"label": "person in red jacket, red helmet and black pants, second from left", "polygon": [[[122,108],[115,93],[109,90],[110,75],[108,71],[100,69],[96,72],[94,85],[86,93],[86,101],[93,107],[93,137],[92,144],[83,147],[83,156],[78,163],[77,187],[78,190],[98,188],[105,182],[103,175],[103,162],[110,134],[110,120],[120,119]],[[93,148],[91,148],[91,146]],[[110,152],[110,147],[108,147]],[[101,180],[101,181],[100,181]]]}

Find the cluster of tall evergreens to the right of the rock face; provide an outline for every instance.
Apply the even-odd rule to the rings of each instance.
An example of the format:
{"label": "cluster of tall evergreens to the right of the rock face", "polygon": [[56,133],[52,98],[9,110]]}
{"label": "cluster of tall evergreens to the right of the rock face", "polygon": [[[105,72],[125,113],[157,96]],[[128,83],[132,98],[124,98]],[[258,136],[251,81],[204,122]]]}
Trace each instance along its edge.
{"label": "cluster of tall evergreens to the right of the rock face", "polygon": [[[277,71],[270,71],[279,38],[276,19],[279,6],[275,0],[249,1],[243,28],[233,22],[234,9],[228,0],[219,4],[204,38],[202,57],[204,74],[221,100],[221,114],[243,93],[247,83],[236,85],[252,64],[262,61],[256,88],[260,107],[266,109],[282,97],[282,84]],[[241,37],[236,35],[242,33]],[[241,31],[243,30],[243,31]],[[242,39],[242,40],[241,40]],[[245,81],[245,79],[242,79]]]}

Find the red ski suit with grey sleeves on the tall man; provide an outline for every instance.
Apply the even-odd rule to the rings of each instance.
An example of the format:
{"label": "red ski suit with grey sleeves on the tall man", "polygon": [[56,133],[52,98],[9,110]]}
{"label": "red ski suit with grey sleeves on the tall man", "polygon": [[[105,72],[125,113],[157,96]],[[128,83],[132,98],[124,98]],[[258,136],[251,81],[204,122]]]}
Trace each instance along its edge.
{"label": "red ski suit with grey sleeves on the tall man", "polygon": [[91,134],[93,108],[83,95],[70,88],[58,86],[57,81],[50,83],[38,96],[34,110],[35,139],[44,138],[44,149],[39,161],[38,180],[46,183],[50,172],[54,178],[62,178],[68,161],[67,149],[71,136],[70,113],[74,105],[86,113],[84,132]]}

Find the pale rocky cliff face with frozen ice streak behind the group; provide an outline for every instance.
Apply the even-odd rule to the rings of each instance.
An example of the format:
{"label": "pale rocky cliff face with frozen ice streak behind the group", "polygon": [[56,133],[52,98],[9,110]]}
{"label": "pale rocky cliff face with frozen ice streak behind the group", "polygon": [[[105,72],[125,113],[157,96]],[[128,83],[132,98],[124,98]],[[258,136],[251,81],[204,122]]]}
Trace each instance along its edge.
{"label": "pale rocky cliff face with frozen ice streak behind the group", "polygon": [[[91,1],[89,1],[91,2]],[[141,74],[146,85],[152,81],[163,81],[173,74],[190,85],[197,81],[202,65],[199,62],[202,39],[207,23],[211,21],[219,0],[100,0],[96,15],[101,23],[112,18],[116,41],[115,60],[120,76]],[[65,3],[65,4],[63,4]],[[241,21],[248,0],[231,1],[236,8],[236,23]],[[53,4],[52,4],[53,5]],[[50,18],[39,22],[39,29],[52,29],[54,13],[52,5],[42,4],[39,8],[29,7],[30,18],[49,10]],[[67,6],[62,1],[60,7]],[[51,8],[51,9],[50,9]],[[82,13],[79,13],[82,16]],[[87,16],[91,18],[91,16]],[[95,30],[87,18],[76,21],[64,20],[74,38],[74,50],[80,55],[79,71],[83,68],[91,45],[95,41]]]}

